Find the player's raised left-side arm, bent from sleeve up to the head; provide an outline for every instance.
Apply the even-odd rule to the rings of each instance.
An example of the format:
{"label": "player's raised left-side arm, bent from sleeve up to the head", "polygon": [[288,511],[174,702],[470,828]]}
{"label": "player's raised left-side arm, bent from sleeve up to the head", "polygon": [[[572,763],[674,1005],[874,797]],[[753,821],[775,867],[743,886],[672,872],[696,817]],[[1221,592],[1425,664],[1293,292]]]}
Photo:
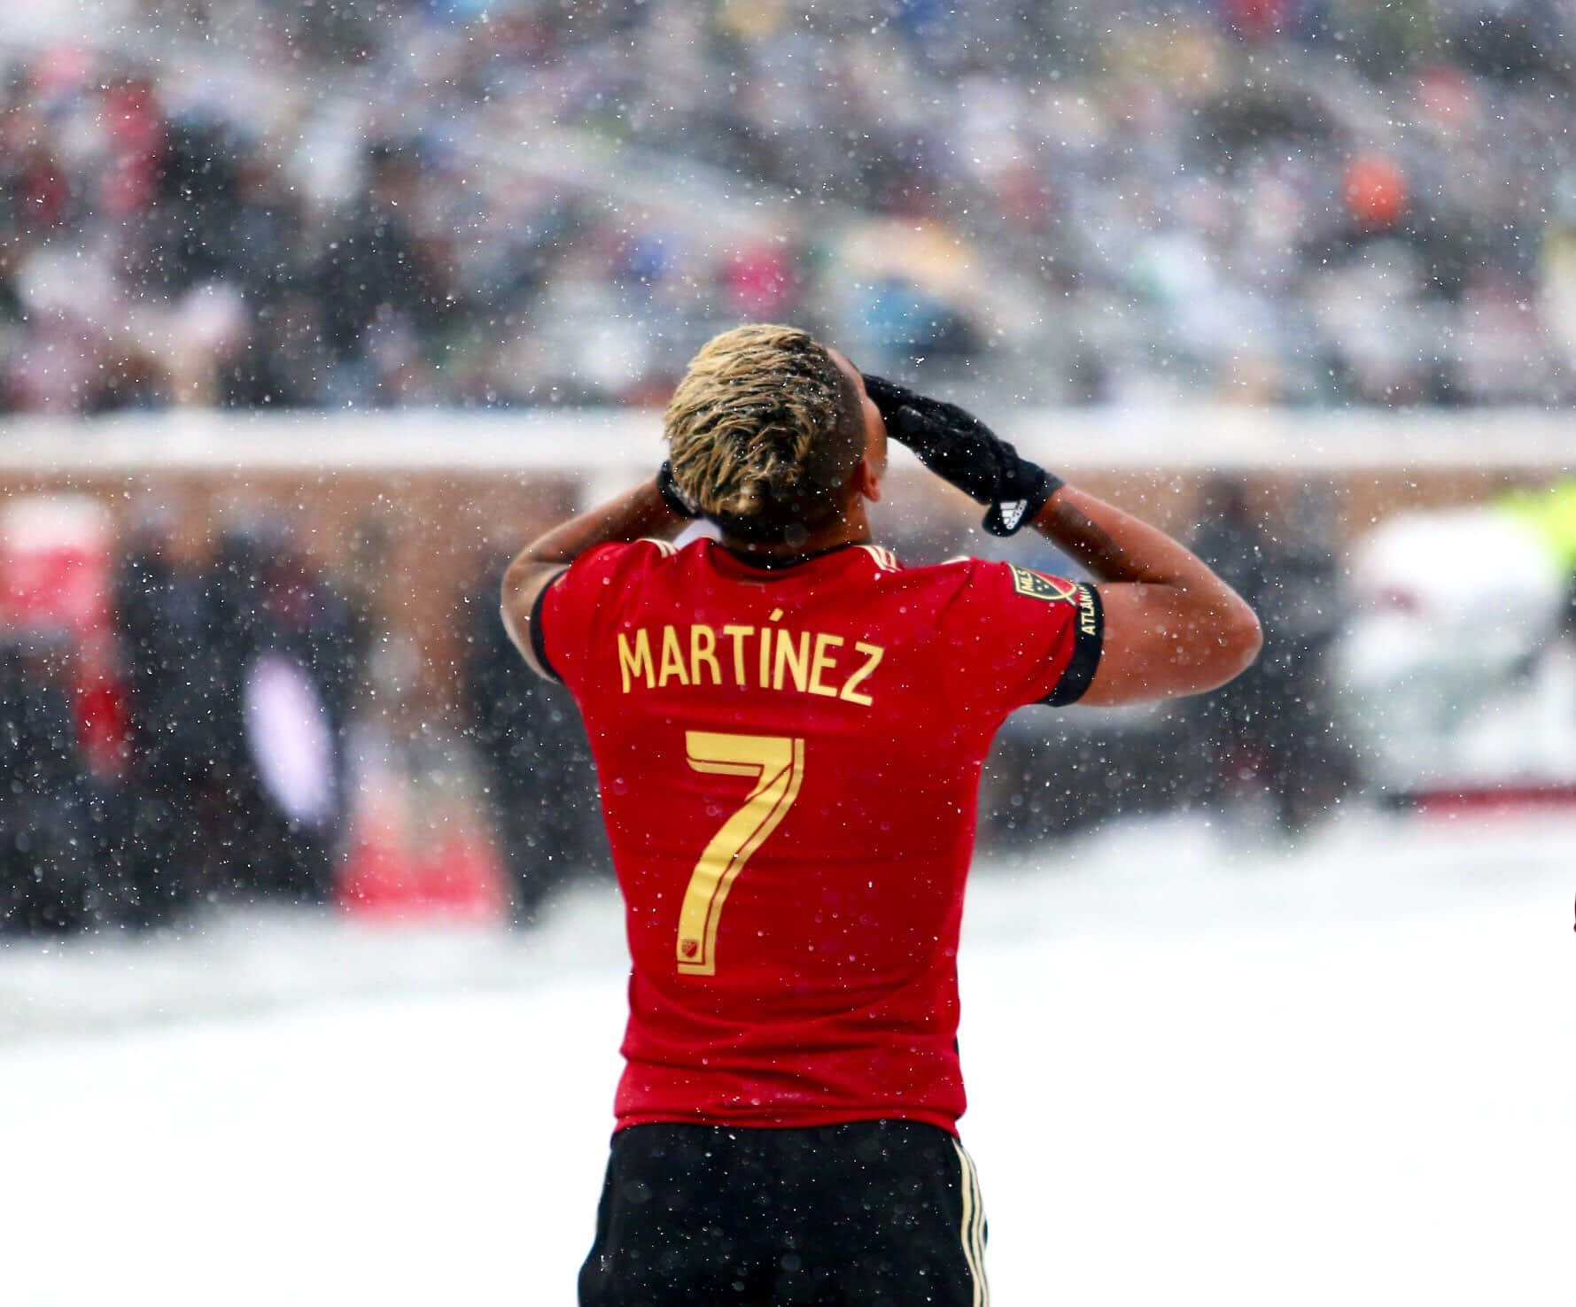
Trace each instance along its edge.
{"label": "player's raised left-side arm, bent from sleeve up to the head", "polygon": [[526,545],[503,573],[503,625],[525,661],[547,676],[533,644],[531,614],[553,578],[586,550],[649,535],[671,539],[695,517],[667,474],[667,465],[634,490],[555,526]]}

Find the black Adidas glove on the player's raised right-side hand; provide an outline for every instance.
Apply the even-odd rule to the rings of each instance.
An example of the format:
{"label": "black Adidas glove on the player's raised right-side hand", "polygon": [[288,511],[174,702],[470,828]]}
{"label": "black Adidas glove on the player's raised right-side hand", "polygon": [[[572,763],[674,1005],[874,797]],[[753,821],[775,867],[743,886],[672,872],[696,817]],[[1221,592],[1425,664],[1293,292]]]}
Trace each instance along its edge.
{"label": "black Adidas glove on the player's raised right-side hand", "polygon": [[1018,455],[972,413],[920,395],[883,376],[865,376],[865,391],[881,409],[887,435],[901,441],[944,482],[977,504],[988,504],[983,528],[1012,535],[1045,507],[1064,482]]}

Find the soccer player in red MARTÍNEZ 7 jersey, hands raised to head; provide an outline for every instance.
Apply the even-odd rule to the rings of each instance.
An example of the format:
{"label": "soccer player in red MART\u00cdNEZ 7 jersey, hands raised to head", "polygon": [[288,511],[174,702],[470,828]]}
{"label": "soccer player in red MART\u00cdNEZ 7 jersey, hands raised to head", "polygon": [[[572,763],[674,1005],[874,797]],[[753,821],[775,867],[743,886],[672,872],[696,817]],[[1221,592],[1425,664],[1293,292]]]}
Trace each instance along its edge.
{"label": "soccer player in red MART\u00cdNEZ 7 jersey, hands raised to head", "polygon": [[[887,436],[1094,584],[906,568]],[[585,715],[624,896],[626,1069],[583,1307],[980,1307],[957,946],[980,765],[1026,704],[1209,690],[1259,647],[1184,546],[802,331],[692,361],[668,461],[511,565]],[[692,517],[720,540],[675,548]]]}

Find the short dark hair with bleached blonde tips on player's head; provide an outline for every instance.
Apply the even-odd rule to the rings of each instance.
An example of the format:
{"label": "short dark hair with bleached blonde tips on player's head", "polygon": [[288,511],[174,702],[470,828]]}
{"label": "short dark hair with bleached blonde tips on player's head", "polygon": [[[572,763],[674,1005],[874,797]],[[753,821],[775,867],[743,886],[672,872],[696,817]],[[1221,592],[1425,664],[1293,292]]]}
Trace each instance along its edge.
{"label": "short dark hair with bleached blonde tips on player's head", "polygon": [[708,340],[662,422],[678,488],[750,540],[831,521],[865,444],[857,392],[827,348],[769,323]]}

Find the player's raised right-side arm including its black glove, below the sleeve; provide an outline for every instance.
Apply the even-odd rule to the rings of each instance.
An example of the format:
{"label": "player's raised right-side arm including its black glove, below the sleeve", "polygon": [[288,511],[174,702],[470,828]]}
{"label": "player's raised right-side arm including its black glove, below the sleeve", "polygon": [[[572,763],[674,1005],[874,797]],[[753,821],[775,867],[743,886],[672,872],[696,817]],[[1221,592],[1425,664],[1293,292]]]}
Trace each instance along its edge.
{"label": "player's raised right-side arm including its black glove, below the sleeve", "polygon": [[1094,573],[1105,636],[1078,702],[1196,694],[1258,657],[1262,633],[1253,609],[1163,531],[1065,485],[957,405],[879,376],[865,376],[865,389],[894,438],[936,476],[990,505],[987,531],[1012,535],[1032,524]]}

